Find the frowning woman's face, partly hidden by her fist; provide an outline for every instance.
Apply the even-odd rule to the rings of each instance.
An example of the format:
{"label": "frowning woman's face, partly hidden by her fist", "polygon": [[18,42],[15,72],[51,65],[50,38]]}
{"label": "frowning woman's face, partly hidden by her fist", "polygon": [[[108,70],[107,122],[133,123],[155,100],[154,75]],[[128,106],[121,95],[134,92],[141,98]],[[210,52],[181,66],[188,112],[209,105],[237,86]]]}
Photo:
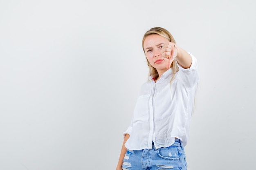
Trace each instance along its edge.
{"label": "frowning woman's face, partly hidden by her fist", "polygon": [[162,46],[165,42],[169,42],[167,38],[164,38],[157,34],[148,35],[144,40],[144,51],[148,62],[159,71],[166,71],[166,65],[168,59],[162,57]]}

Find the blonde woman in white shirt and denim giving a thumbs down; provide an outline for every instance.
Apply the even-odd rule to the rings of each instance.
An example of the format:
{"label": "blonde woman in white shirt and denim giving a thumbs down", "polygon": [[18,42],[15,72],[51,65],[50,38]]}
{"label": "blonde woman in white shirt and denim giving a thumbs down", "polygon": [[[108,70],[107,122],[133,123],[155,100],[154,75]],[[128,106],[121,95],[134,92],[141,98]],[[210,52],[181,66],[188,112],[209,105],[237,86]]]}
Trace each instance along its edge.
{"label": "blonde woman in white shirt and denim giving a thumbs down", "polygon": [[161,27],[145,33],[142,47],[150,78],[141,86],[116,170],[186,170],[197,60]]}

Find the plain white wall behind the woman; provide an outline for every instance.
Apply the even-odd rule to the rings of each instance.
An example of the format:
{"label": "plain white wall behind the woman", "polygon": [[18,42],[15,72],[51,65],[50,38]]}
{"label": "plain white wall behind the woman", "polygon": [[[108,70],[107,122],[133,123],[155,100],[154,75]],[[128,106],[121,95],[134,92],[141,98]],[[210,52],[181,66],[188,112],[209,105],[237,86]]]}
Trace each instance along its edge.
{"label": "plain white wall behind the woman", "polygon": [[254,0],[0,0],[0,170],[114,170],[154,26],[198,59],[188,169],[255,167]]}

